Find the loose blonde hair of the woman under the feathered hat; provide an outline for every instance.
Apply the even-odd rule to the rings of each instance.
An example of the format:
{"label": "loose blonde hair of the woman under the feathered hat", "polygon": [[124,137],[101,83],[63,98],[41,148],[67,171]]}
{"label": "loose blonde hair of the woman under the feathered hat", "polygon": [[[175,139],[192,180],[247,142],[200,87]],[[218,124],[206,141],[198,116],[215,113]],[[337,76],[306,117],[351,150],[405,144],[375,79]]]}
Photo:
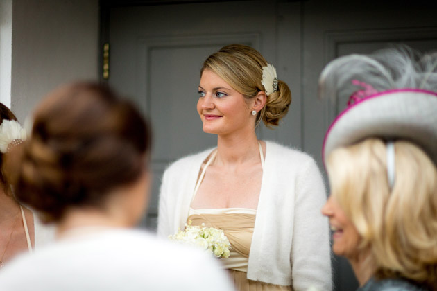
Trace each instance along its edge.
{"label": "loose blonde hair of the woman under the feathered hat", "polygon": [[437,168],[418,146],[395,141],[395,184],[386,144],[366,139],[327,158],[332,195],[370,249],[379,278],[403,277],[437,290]]}

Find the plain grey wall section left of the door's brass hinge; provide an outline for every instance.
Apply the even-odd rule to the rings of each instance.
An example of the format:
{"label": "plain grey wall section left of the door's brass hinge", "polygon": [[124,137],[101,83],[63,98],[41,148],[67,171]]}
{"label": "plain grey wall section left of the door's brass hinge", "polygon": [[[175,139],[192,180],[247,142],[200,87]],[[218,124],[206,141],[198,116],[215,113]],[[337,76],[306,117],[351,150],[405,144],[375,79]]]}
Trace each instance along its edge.
{"label": "plain grey wall section left of the door's brass hinge", "polygon": [[11,103],[19,121],[53,88],[98,80],[98,0],[14,0]]}

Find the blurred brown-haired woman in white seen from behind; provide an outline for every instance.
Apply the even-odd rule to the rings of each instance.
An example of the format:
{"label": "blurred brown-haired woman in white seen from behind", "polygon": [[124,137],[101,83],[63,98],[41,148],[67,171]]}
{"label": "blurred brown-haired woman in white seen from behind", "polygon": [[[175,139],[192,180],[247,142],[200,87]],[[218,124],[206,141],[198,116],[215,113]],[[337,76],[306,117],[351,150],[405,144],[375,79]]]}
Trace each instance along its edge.
{"label": "blurred brown-haired woman in white seen from behind", "polygon": [[134,227],[146,208],[151,132],[138,109],[94,83],[53,91],[33,115],[12,177],[17,199],[57,240],[0,272],[5,291],[231,290],[214,258]]}

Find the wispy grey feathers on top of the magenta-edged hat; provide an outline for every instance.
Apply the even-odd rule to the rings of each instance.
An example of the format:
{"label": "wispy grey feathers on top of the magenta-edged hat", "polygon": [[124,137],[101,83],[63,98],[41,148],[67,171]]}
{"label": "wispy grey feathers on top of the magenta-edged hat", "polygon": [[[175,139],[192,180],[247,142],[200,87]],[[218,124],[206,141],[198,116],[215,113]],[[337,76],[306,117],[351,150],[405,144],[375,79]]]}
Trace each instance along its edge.
{"label": "wispy grey feathers on top of the magenta-edged hat", "polygon": [[329,62],[320,74],[321,98],[348,100],[361,87],[377,91],[417,88],[437,91],[437,53],[421,55],[408,46],[387,48],[372,55],[345,55]]}

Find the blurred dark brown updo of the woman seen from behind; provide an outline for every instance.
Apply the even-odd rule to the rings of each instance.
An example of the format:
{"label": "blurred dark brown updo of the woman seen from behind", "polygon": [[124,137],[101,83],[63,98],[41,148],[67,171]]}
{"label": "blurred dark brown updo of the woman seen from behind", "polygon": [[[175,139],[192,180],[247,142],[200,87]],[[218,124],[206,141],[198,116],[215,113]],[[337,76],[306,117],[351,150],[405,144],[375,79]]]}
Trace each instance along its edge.
{"label": "blurred dark brown updo of the woman seen from behind", "polygon": [[141,175],[150,143],[139,111],[107,87],[60,87],[35,111],[15,195],[46,221],[58,222],[69,207],[100,207],[108,192]]}

